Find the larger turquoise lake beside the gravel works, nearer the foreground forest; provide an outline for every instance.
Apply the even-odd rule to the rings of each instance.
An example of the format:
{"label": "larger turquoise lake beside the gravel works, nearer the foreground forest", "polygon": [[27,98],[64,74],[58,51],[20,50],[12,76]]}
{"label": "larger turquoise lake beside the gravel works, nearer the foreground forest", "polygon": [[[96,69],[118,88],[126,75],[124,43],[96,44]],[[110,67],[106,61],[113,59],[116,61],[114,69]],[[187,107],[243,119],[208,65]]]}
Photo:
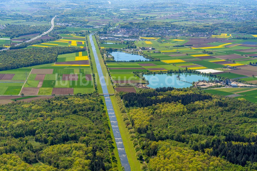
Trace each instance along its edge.
{"label": "larger turquoise lake beside the gravel works, nearer the foreground forest", "polygon": [[[180,76],[180,80],[177,79],[177,75]],[[192,82],[198,80],[210,80],[215,79],[206,75],[200,75],[195,73],[170,73],[170,74],[144,74],[146,80],[149,81],[147,85],[150,88],[158,87],[174,87],[174,88],[186,88],[192,86]],[[187,81],[187,82],[185,82]]]}

